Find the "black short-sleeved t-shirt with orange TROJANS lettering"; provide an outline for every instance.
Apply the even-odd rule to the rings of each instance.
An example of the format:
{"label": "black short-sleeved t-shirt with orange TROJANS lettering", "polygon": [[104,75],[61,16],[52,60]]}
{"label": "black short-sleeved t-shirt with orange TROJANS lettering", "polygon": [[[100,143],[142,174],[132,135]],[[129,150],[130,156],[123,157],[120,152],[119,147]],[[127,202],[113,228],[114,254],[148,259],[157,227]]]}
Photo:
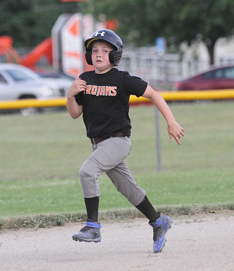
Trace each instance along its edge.
{"label": "black short-sleeved t-shirt with orange TROJANS lettering", "polygon": [[142,96],[147,83],[116,68],[103,74],[84,72],[79,78],[87,83],[86,91],[75,95],[76,102],[83,105],[87,137],[106,137],[120,132],[129,136],[129,96]]}

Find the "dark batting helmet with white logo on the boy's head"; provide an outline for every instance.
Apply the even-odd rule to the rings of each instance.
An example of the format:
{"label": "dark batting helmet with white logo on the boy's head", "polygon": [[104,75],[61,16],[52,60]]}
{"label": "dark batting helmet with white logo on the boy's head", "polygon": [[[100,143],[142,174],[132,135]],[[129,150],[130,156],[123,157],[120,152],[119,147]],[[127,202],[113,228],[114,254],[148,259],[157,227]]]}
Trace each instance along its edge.
{"label": "dark batting helmet with white logo on the boy's head", "polygon": [[92,46],[95,41],[106,41],[108,42],[114,50],[109,52],[109,60],[114,66],[119,65],[121,56],[123,53],[123,43],[115,32],[109,29],[101,29],[95,31],[88,40],[85,41],[85,59],[89,65],[93,65],[91,54]]}

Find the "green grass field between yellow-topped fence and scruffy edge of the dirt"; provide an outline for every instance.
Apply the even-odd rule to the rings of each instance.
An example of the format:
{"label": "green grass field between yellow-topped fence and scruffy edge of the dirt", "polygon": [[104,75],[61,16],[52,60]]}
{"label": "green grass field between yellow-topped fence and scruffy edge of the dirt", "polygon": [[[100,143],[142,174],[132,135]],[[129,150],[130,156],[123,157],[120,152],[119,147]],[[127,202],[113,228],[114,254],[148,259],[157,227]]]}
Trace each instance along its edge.
{"label": "green grass field between yellow-topped fence and scruffy edge of the dirt", "polygon": [[[162,171],[157,171],[153,106],[131,107],[128,166],[153,205],[233,202],[233,102],[169,104],[185,129],[170,142],[160,116]],[[91,153],[82,118],[66,111],[0,115],[0,216],[84,210],[79,168]],[[100,210],[131,207],[99,177]]]}

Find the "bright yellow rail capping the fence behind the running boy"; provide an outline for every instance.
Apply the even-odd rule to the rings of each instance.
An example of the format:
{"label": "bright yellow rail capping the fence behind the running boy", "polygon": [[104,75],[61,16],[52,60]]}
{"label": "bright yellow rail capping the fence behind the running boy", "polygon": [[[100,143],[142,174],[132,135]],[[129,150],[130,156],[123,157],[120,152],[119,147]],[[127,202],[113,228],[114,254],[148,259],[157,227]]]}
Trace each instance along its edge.
{"label": "bright yellow rail capping the fence behind the running boy", "polygon": [[[234,89],[209,90],[209,91],[176,91],[159,92],[165,101],[190,101],[190,100],[221,100],[234,99]],[[129,103],[149,102],[148,99],[134,95],[130,96]],[[14,101],[1,101],[1,109],[19,109],[28,107],[64,107],[66,98],[38,100],[38,99],[19,99]]]}

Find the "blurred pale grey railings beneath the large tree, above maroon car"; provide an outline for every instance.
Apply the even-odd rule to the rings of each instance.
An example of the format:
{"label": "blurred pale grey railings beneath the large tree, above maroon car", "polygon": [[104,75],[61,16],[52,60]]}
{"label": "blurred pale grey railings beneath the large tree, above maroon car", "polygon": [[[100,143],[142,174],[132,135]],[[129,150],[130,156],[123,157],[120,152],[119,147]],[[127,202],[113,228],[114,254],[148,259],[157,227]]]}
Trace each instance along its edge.
{"label": "blurred pale grey railings beneath the large tree, above maroon car", "polygon": [[[234,64],[234,55],[217,57],[214,66]],[[125,48],[119,70],[147,81],[154,88],[173,90],[175,81],[194,76],[211,68],[208,57],[182,57],[180,54],[162,54],[156,47]]]}

